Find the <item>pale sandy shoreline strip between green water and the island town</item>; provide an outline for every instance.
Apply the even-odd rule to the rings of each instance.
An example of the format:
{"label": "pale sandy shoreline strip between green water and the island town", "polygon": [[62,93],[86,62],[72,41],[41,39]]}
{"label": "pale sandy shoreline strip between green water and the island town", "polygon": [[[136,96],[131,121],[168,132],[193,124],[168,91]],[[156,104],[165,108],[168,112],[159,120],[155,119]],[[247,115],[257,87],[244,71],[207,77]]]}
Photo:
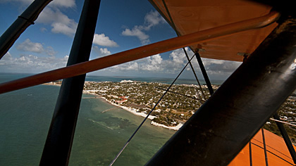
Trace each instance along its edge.
{"label": "pale sandy shoreline strip between green water and the island town", "polygon": [[[54,86],[59,86],[61,87],[61,84],[56,84],[55,82],[49,82],[49,83],[46,83],[44,85],[54,85]],[[112,103],[111,101],[107,100],[106,98],[102,97],[102,96],[99,96],[98,94],[95,94],[95,93],[92,93],[94,90],[83,90],[82,93],[83,94],[91,94],[91,95],[94,95],[94,96],[97,96],[98,98],[101,98],[101,99],[104,99],[104,101],[106,101],[107,103],[113,105],[113,106],[116,106],[118,108],[122,108],[123,110],[126,110],[130,113],[132,113],[133,115],[137,115],[137,116],[141,116],[141,117],[147,117],[147,114],[145,113],[139,113],[138,109],[136,108],[131,108],[131,107],[126,107],[126,106],[121,106],[121,105],[118,105],[116,103]],[[163,127],[163,128],[166,128],[166,129],[171,129],[171,130],[175,130],[177,131],[178,129],[180,129],[183,125],[182,124],[178,124],[177,126],[175,127],[169,127],[169,126],[166,126],[166,125],[162,125],[162,124],[159,124],[157,122],[153,122],[152,120],[154,119],[154,117],[156,116],[153,116],[153,115],[149,115],[149,117],[147,117],[149,120],[151,120],[150,124],[151,125],[154,125],[156,127]]]}

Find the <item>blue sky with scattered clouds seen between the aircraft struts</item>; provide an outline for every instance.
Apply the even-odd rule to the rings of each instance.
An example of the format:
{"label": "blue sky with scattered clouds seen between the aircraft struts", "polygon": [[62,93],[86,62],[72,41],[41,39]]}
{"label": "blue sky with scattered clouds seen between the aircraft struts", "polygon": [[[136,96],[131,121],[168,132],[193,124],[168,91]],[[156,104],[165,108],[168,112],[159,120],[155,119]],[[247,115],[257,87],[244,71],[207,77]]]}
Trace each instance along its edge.
{"label": "blue sky with scattered clouds seen between the aircraft struts", "polygon": [[[82,0],[54,0],[0,60],[1,72],[38,73],[66,66]],[[0,34],[32,0],[0,0]],[[173,29],[147,0],[102,0],[90,59],[175,37]],[[188,50],[190,56],[192,52]],[[210,79],[225,79],[240,63],[203,58]],[[92,72],[101,76],[175,77],[187,63],[182,49]],[[193,65],[202,78],[196,60]],[[193,79],[192,70],[183,78]]]}

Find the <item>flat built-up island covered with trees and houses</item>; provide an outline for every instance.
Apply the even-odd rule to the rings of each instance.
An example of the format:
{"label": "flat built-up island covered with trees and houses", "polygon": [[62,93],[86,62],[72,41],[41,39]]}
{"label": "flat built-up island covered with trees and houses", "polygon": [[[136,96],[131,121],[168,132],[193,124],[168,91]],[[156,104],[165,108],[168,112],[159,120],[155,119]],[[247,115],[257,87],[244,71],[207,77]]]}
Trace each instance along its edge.
{"label": "flat built-up island covered with trees and houses", "polygon": [[[48,84],[61,85],[61,81]],[[212,85],[214,91],[219,85]],[[84,93],[94,94],[107,102],[128,110],[130,113],[147,117],[147,114],[158,103],[169,84],[159,82],[140,82],[122,80],[121,82],[85,82]],[[178,130],[210,97],[206,85],[202,90],[196,84],[174,84],[164,98],[159,101],[149,116],[151,124],[168,129]],[[292,142],[296,142],[296,95],[289,96],[283,103],[278,115],[280,120],[291,125],[285,125]],[[107,111],[107,110],[106,110]],[[294,126],[293,126],[294,125]],[[272,119],[266,122],[265,129],[280,135],[276,122]]]}

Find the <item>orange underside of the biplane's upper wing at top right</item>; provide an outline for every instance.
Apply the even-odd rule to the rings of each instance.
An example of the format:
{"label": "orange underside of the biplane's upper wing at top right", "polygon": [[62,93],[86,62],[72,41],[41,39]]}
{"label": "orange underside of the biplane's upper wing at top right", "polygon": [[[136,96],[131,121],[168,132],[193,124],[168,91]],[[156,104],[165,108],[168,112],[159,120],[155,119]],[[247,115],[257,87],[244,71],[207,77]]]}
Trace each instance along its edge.
{"label": "orange underside of the biplane's upper wing at top right", "polygon": [[[271,6],[245,0],[150,0],[150,2],[181,35],[257,18],[271,11]],[[242,61],[243,55],[252,53],[276,26],[277,23],[273,23],[261,29],[249,30],[223,39],[200,42],[190,48],[193,51],[200,49],[199,53],[203,58]]]}

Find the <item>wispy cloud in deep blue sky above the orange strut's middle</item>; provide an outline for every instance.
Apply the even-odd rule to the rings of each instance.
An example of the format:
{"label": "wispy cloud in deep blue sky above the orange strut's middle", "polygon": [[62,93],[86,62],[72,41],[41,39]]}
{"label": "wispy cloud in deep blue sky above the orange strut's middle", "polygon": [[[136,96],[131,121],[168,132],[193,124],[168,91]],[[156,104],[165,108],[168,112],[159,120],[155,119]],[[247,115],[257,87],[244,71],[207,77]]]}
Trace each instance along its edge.
{"label": "wispy cloud in deep blue sky above the orange strut's middle", "polygon": [[125,28],[121,34],[123,36],[137,37],[142,44],[149,44],[149,35],[144,31],[149,31],[152,27],[160,23],[166,23],[164,18],[157,11],[150,11],[144,17],[144,25],[135,25],[132,30]]}

